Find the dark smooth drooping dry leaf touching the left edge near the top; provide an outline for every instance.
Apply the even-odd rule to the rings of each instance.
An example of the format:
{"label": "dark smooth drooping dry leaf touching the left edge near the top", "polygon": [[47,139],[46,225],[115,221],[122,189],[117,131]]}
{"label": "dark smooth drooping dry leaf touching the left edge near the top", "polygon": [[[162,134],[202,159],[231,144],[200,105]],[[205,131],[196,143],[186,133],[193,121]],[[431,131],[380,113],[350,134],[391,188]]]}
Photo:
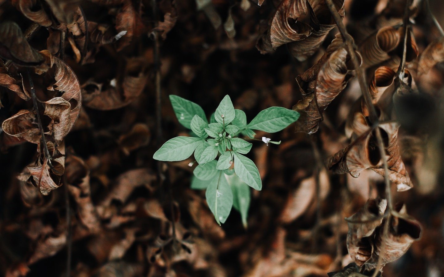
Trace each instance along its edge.
{"label": "dark smooth drooping dry leaf touching the left edge near the top", "polygon": [[38,66],[44,59],[29,45],[19,25],[15,22],[0,24],[0,57],[20,66]]}

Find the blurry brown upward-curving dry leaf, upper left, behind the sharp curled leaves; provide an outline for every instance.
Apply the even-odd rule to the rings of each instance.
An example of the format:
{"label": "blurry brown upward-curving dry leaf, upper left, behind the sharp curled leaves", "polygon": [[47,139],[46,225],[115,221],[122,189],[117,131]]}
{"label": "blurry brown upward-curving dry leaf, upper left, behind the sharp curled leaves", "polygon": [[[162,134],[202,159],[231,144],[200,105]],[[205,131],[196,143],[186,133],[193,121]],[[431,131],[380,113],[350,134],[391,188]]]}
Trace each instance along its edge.
{"label": "blurry brown upward-curving dry leaf, upper left, behind the sharp curled leaves", "polygon": [[[143,72],[145,64],[140,59],[130,59],[125,68],[123,82],[119,80],[111,81],[107,90],[100,91],[101,85],[88,82],[88,85],[95,86],[95,93],[88,95],[84,89],[85,105],[92,109],[111,110],[119,109],[134,101],[142,93],[146,83],[147,75]],[[130,75],[131,72],[138,72],[137,76]],[[100,93],[98,93],[100,91]]]}

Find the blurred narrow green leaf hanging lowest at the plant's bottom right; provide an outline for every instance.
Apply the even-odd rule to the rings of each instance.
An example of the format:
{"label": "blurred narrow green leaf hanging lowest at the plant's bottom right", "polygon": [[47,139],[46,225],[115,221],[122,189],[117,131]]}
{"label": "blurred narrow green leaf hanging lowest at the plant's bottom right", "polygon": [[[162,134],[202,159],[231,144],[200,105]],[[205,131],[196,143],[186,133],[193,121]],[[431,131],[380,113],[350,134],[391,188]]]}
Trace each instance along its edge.
{"label": "blurred narrow green leaf hanging lowest at the plant's bottom right", "polygon": [[226,176],[233,192],[233,207],[241,213],[242,224],[247,228],[248,209],[250,208],[250,187],[236,174]]}

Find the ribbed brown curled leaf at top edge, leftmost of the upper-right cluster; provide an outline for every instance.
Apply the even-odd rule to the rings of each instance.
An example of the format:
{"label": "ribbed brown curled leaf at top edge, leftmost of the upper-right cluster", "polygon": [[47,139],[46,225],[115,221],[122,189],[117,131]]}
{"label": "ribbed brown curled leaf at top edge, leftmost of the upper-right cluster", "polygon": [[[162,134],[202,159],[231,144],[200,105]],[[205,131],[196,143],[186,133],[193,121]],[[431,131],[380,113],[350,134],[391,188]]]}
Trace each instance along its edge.
{"label": "ribbed brown curled leaf at top edge, leftmost of the upper-right cluster", "polygon": [[[282,0],[271,25],[258,40],[256,47],[262,54],[269,53],[285,43],[305,39],[312,27],[299,19],[308,12],[306,0]],[[299,21],[298,21],[299,20]]]}

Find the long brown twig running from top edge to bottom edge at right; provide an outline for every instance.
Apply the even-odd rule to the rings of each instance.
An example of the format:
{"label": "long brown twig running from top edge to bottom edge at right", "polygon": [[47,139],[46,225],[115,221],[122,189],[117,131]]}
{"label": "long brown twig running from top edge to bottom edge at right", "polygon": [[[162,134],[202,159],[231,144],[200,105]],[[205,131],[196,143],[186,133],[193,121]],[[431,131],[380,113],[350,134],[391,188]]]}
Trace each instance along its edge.
{"label": "long brown twig running from top edge to bottom edge at right", "polygon": [[[367,86],[365,85],[364,74],[362,73],[357,56],[355,54],[356,45],[353,42],[353,38],[349,35],[347,30],[345,29],[344,23],[342,23],[341,17],[338,15],[336,7],[333,4],[333,1],[332,0],[325,0],[325,2],[327,4],[332,16],[334,17],[334,20],[336,21],[337,27],[338,27],[339,31],[341,32],[341,35],[345,41],[345,45],[347,47],[347,50],[349,51],[350,57],[353,62],[353,66],[355,67],[355,72],[356,72],[356,75],[358,78],[359,86],[361,87],[362,96],[364,97],[365,104],[367,105],[367,108],[369,109],[370,120],[372,121],[373,124],[378,125],[379,120],[378,120],[378,116],[376,113],[376,109],[372,104],[372,101],[371,101],[372,98],[370,96],[369,91],[367,90]],[[386,222],[389,222],[390,217],[391,217],[391,211],[393,210],[392,194],[391,194],[390,179],[389,179],[389,166],[387,163],[387,156],[385,154],[385,147],[384,147],[384,142],[383,142],[382,136],[381,136],[381,130],[379,128],[375,128],[375,133],[376,133],[378,148],[379,148],[380,155],[381,155],[381,160],[384,165],[385,194],[386,194],[386,198],[387,198],[387,206],[389,209],[389,213],[388,213],[387,218],[385,220],[386,220]],[[385,229],[384,234],[386,234],[386,232],[388,231],[387,226],[388,226],[388,224],[386,223],[385,228],[384,228]],[[384,250],[385,249],[385,240],[382,241],[382,245],[383,245],[382,250]],[[380,253],[382,254],[382,251]],[[379,271],[379,267],[381,266],[381,257],[382,257],[382,255],[380,255],[378,257],[378,264],[377,264],[375,273],[373,274],[373,277],[377,276],[377,273]]]}

